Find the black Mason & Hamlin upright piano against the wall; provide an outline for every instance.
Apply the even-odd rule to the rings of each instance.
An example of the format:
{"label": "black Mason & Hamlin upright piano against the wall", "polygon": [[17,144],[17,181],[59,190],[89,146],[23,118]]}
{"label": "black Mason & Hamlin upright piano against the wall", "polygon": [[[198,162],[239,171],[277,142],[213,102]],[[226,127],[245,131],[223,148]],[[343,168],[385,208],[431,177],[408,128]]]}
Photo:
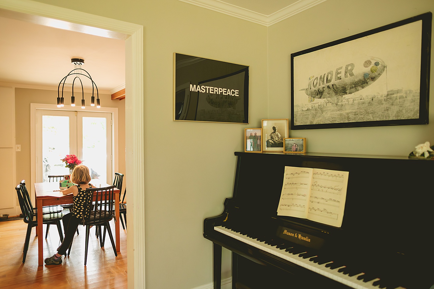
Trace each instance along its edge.
{"label": "black Mason & Hamlin upright piano against the wall", "polygon": [[[430,289],[434,284],[434,161],[392,156],[236,152],[233,197],[204,220],[232,251],[233,289]],[[278,216],[285,166],[349,172],[342,227]],[[309,236],[294,242],[283,231]],[[434,286],[433,286],[434,288]]]}

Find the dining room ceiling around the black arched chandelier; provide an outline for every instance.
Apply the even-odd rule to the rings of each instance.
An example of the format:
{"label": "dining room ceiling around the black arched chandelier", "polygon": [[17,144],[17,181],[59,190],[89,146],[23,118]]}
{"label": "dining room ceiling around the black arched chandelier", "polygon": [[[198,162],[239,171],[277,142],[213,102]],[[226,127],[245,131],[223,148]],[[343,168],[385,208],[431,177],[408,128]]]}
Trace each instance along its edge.
{"label": "dining room ceiling around the black arched chandelier", "polygon": [[[0,16],[0,85],[55,89],[75,67],[71,58],[84,59],[99,93],[125,87],[125,41],[53,28]],[[85,91],[92,82],[80,77]],[[74,77],[66,78],[71,83]],[[75,85],[79,85],[75,81]],[[65,85],[70,90],[72,85]],[[75,90],[75,89],[74,89]],[[81,90],[81,88],[80,88]]]}

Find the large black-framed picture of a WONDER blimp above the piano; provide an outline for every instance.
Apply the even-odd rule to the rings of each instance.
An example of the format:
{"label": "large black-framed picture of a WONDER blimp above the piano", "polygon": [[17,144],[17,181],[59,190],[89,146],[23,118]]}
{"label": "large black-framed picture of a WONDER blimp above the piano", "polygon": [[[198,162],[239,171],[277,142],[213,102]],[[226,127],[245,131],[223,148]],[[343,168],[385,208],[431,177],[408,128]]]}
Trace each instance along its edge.
{"label": "large black-framed picture of a WONDER blimp above the piano", "polygon": [[431,12],[291,54],[291,129],[428,123]]}

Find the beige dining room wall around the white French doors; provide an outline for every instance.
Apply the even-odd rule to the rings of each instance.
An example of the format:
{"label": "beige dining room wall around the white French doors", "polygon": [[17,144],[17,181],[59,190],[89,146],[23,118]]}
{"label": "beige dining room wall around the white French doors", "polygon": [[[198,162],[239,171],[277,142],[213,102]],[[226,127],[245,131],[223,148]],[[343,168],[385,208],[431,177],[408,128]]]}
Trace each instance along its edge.
{"label": "beige dining room wall around the white French doors", "polygon": [[[90,96],[85,93],[85,99]],[[30,182],[30,104],[55,104],[56,97],[57,91],[52,90],[15,89],[15,143],[21,145],[21,151],[15,152],[16,184],[23,179]],[[118,172],[125,174],[125,101],[112,101],[109,94],[99,94],[99,98],[102,107],[118,108]]]}

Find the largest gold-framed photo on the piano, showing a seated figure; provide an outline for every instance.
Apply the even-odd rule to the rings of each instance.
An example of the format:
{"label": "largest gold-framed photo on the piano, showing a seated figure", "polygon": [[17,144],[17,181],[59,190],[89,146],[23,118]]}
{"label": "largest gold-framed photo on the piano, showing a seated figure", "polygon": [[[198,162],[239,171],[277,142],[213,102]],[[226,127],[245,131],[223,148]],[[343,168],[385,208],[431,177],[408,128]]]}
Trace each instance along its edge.
{"label": "largest gold-framed photo on the piano, showing a seated figure", "polygon": [[262,120],[262,151],[283,152],[283,139],[289,137],[288,119]]}

